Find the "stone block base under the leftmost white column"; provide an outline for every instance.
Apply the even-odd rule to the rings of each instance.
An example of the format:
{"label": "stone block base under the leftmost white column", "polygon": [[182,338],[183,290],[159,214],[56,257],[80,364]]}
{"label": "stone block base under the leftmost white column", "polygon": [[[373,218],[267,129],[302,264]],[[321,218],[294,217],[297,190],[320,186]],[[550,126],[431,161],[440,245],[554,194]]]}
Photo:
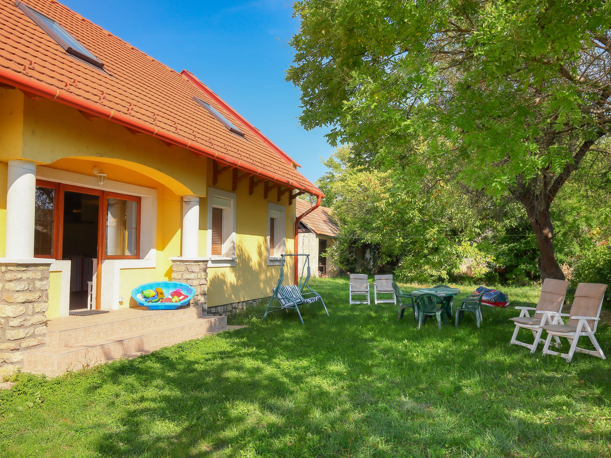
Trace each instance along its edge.
{"label": "stone block base under the leftmost white column", "polygon": [[0,264],[0,382],[45,346],[48,289],[48,264]]}

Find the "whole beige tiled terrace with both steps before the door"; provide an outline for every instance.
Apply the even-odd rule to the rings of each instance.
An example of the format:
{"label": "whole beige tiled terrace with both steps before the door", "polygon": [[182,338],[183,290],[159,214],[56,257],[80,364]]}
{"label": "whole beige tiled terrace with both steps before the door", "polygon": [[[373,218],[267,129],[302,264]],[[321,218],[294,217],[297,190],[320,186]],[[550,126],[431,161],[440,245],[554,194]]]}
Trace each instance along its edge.
{"label": "whole beige tiled terrace with both steps before the door", "polygon": [[238,327],[227,326],[226,316],[202,316],[202,307],[123,308],[49,319],[46,347],[24,353],[23,370],[57,376]]}

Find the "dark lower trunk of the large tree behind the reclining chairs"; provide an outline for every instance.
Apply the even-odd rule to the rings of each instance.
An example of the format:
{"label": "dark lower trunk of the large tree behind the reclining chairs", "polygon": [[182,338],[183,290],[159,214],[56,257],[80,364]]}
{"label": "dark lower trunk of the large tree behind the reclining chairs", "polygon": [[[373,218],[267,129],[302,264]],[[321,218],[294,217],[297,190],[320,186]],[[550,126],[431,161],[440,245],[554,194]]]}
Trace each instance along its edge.
{"label": "dark lower trunk of the large tree behind the reclining chairs", "polygon": [[525,207],[539,247],[541,280],[546,278],[564,280],[565,274],[560,269],[554,253],[554,225],[552,225],[549,208],[535,209],[529,205]]}

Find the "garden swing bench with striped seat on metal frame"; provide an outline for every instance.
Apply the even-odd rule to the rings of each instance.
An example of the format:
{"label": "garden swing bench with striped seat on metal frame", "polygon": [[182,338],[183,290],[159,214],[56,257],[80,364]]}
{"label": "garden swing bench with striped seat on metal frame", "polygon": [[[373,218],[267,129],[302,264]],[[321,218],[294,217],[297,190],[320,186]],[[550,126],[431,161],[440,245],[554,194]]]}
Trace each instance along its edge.
{"label": "garden swing bench with striped seat on metal frame", "polygon": [[[284,264],[287,263],[287,256],[305,256],[304,267],[301,269],[301,277],[299,278],[298,285],[282,285],[282,280],[284,280]],[[265,309],[265,314],[263,314],[263,318],[267,316],[268,313],[277,311],[277,310],[286,310],[288,313],[289,308],[295,308],[297,310],[297,314],[299,315],[299,319],[301,320],[301,324],[304,324],[303,318],[301,318],[301,313],[299,312],[299,305],[307,305],[314,302],[323,303],[324,311],[326,311],[327,316],[329,316],[329,311],[327,310],[326,305],[324,305],[324,300],[320,296],[320,294],[310,288],[309,280],[310,280],[310,255],[298,253],[296,255],[280,255],[282,261],[280,263],[280,278],[278,278],[278,283],[276,288],[274,288],[274,294],[272,294],[271,299],[269,300],[268,307]],[[307,266],[307,276],[304,280],[304,271]],[[295,259],[295,268],[297,268],[297,258]],[[303,289],[307,288],[309,293],[304,293]],[[274,302],[274,299],[277,299],[280,307],[271,305]]]}

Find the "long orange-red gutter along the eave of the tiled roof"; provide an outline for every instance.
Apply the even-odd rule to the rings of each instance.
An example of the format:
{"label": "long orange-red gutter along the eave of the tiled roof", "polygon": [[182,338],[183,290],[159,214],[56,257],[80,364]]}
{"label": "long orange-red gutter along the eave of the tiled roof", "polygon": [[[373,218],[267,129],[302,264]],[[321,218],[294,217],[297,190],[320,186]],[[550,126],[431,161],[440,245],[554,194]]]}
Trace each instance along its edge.
{"label": "long orange-red gutter along the eave of the tiled roof", "polygon": [[254,167],[253,165],[245,164],[244,162],[238,161],[237,159],[234,159],[231,156],[227,156],[226,154],[218,153],[216,151],[209,150],[208,148],[204,148],[198,144],[194,144],[193,142],[186,140],[178,135],[168,133],[166,131],[163,131],[162,129],[153,129],[152,126],[149,126],[144,122],[140,122],[134,119],[133,117],[129,117],[121,113],[115,112],[114,110],[90,102],[88,100],[83,100],[81,97],[73,95],[73,93],[71,92],[56,89],[56,87],[53,87],[50,84],[46,84],[45,82],[38,81],[34,78],[29,78],[29,76],[23,75],[23,73],[16,73],[15,71],[10,70],[9,68],[0,67],[0,81],[4,82],[5,84],[13,85],[20,90],[34,93],[49,100],[57,101],[64,105],[100,117],[102,119],[110,120],[124,127],[134,129],[144,134],[156,137],[159,140],[175,145],[177,147],[186,148],[192,151],[192,153],[197,154],[199,156],[205,156],[207,158],[214,159],[215,161],[230,165],[231,167],[244,170],[247,173],[262,176],[267,180],[275,181],[276,183],[283,184],[287,187],[292,187],[293,189],[298,189],[299,191],[304,191],[307,194],[324,196],[320,189],[315,186],[304,186],[301,183],[296,183],[295,181],[287,180],[286,178],[279,177],[274,173],[267,172],[266,170],[261,170],[258,167]]}

